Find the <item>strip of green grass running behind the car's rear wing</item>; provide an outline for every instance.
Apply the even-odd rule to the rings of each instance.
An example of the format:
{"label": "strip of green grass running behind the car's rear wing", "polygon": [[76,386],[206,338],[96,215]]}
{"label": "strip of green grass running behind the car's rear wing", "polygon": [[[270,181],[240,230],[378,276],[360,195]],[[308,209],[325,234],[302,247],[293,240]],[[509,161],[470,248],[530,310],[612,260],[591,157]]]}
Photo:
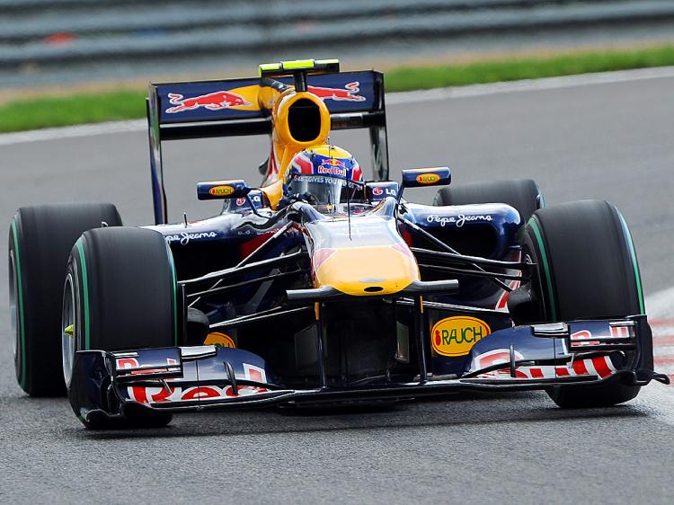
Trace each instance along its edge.
{"label": "strip of green grass running behind the car's rear wing", "polygon": [[[537,79],[674,65],[674,46],[512,58],[466,65],[403,66],[386,72],[386,91]],[[146,89],[45,96],[0,105],[0,132],[145,117]]]}

